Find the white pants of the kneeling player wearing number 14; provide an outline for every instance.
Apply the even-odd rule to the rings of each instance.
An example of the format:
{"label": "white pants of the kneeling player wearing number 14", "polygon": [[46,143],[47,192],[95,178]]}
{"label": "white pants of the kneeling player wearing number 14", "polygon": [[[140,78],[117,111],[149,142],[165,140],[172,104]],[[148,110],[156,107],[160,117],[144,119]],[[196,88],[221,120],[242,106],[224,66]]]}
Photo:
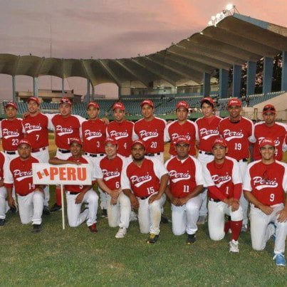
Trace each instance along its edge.
{"label": "white pants of the kneeling player wearing number 14", "polygon": [[43,192],[31,192],[26,196],[17,194],[17,199],[21,223],[28,224],[32,221],[32,224],[41,224],[44,203]]}

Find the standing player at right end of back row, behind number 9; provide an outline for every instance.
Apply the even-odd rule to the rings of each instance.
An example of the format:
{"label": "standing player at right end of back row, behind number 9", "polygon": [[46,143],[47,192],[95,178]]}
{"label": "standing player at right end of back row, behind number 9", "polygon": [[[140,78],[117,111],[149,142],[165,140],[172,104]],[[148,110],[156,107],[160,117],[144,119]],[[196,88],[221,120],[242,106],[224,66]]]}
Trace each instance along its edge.
{"label": "standing player at right end of back row, behind number 9", "polygon": [[265,137],[271,137],[276,144],[275,160],[283,159],[283,145],[287,131],[287,126],[281,122],[276,122],[276,109],[273,105],[264,105],[262,111],[263,122],[257,122],[254,125],[254,134],[252,142],[254,142],[253,160],[260,160],[259,145]]}

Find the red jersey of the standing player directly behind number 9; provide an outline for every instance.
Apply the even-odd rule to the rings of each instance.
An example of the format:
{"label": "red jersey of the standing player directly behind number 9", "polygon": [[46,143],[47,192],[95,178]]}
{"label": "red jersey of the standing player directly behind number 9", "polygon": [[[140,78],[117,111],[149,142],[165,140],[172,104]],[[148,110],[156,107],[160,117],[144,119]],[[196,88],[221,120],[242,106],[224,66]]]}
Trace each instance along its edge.
{"label": "red jersey of the standing player directly behind number 9", "polygon": [[251,141],[254,142],[253,159],[261,160],[259,144],[264,137],[271,137],[276,145],[275,159],[283,159],[283,143],[286,136],[287,127],[281,122],[275,122],[272,127],[268,127],[265,122],[257,122],[254,125],[254,134]]}

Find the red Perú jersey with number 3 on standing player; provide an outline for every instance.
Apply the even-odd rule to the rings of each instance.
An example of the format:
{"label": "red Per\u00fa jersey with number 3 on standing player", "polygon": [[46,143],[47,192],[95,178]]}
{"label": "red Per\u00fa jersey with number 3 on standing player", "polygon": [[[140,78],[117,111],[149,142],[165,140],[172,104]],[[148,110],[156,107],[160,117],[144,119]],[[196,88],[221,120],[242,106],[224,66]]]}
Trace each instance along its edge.
{"label": "red Per\u00fa jersey with number 3 on standing player", "polygon": [[85,120],[82,123],[83,151],[105,153],[105,128],[103,120]]}

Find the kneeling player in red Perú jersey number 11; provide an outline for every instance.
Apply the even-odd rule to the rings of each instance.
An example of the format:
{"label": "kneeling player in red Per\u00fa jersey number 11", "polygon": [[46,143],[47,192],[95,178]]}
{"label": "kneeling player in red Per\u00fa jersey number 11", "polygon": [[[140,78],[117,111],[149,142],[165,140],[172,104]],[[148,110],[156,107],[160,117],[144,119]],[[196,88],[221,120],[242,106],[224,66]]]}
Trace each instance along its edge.
{"label": "kneeling player in red Per\u00fa jersey number 11", "polygon": [[165,193],[172,203],[172,232],[174,235],[187,232],[186,243],[192,244],[196,241],[197,219],[202,205],[202,165],[189,155],[191,144],[188,137],[177,137],[174,144],[177,156],[165,163],[169,172]]}

